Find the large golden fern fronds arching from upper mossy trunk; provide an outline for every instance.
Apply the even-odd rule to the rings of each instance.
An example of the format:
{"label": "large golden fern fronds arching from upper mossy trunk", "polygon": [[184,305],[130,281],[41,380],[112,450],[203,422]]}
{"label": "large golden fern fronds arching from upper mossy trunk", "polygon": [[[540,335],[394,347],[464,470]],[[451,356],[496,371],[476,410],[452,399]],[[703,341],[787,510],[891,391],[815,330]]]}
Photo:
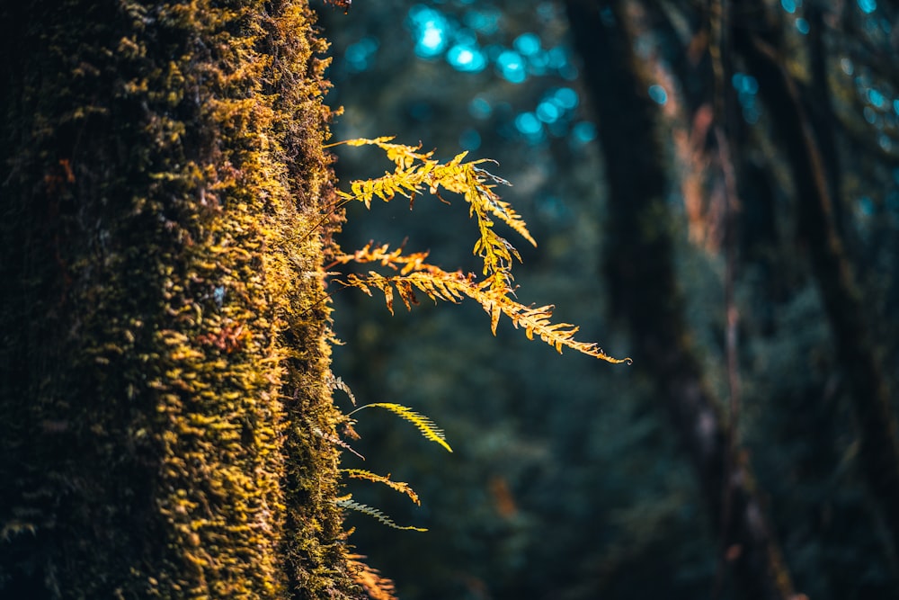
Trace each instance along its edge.
{"label": "large golden fern fronds arching from upper mossy trunk", "polygon": [[351,192],[340,192],[341,198],[343,201],[361,201],[370,207],[375,198],[391,201],[396,195],[409,199],[411,203],[425,188],[441,200],[441,190],[458,193],[468,203],[469,216],[477,222],[479,236],[473,253],[483,261],[484,279],[478,281],[473,273],[450,273],[428,264],[425,262],[426,252],[404,255],[402,248],[390,250],[387,245],[373,246],[369,243],[352,254],[338,255],[334,264],[378,264],[398,274],[385,275],[374,270],[362,275],[350,273],[341,281],[343,285],[359,288],[369,295],[372,290],[380,291],[391,314],[395,294],[399,295],[406,309],[418,304],[415,291],[423,292],[434,301],[455,303],[470,298],[490,315],[490,329],[494,336],[500,317],[505,315],[512,320],[514,327],[524,329],[528,339],[539,336],[559,353],[567,347],[609,363],[631,362],[629,358],[617,359],[605,354],[595,343],[575,340],[578,327],[570,323],[553,323],[552,305],[535,308],[514,300],[512,259],[521,262],[521,255],[507,239],[496,233],[495,221],[502,221],[534,246],[537,242],[531,237],[521,215],[494,192],[497,185],[510,184],[481,166],[493,161],[480,159],[465,162],[467,153],[462,152],[441,164],[433,158],[433,151],[422,152],[421,145],[405,146],[392,143],[392,139],[383,137],[341,142],[348,146],[376,146],[384,150],[395,166],[392,173],[386,172],[376,179],[352,182]]}

